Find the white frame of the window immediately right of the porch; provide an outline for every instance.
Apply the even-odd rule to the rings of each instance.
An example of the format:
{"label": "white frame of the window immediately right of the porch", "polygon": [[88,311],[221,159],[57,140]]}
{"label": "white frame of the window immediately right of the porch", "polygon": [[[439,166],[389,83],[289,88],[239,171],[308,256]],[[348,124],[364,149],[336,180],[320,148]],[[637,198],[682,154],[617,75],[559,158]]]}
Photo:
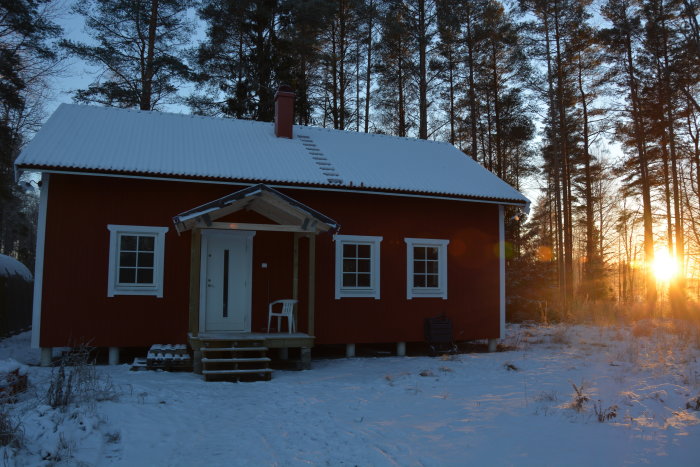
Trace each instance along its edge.
{"label": "white frame of the window immediately right of the porch", "polygon": [[[367,235],[333,235],[335,242],[335,298],[370,297],[379,300],[380,248],[383,237]],[[346,244],[369,245],[370,286],[343,287],[343,246]]]}

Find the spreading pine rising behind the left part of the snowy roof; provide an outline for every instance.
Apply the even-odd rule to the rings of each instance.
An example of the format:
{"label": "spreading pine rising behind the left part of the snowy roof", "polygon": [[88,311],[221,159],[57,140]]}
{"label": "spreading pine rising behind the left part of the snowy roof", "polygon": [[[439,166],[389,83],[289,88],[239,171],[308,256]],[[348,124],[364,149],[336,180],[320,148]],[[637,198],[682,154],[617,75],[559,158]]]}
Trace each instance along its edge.
{"label": "spreading pine rising behind the left part of the snowy roof", "polygon": [[187,76],[181,49],[192,25],[186,12],[193,0],[79,0],[74,12],[85,17],[97,45],[63,41],[63,47],[99,74],[79,102],[153,110],[171,101]]}

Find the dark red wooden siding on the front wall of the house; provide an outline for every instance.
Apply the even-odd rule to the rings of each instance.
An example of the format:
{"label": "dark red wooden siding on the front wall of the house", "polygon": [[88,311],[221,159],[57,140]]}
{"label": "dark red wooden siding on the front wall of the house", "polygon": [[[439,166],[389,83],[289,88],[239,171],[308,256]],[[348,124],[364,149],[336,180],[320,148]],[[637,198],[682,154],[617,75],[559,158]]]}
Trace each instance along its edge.
{"label": "dark red wooden siding on the front wall of the house", "polygon": [[[47,211],[43,347],[185,343],[190,233],[172,216],[241,187],[111,177],[52,175]],[[381,299],[335,299],[332,235],[316,240],[315,335],[319,344],[421,341],[423,318],[441,313],[458,340],[498,337],[498,207],[460,201],[312,190],[282,190],[342,225],[347,235],[382,236]],[[231,220],[261,222],[255,214]],[[223,219],[222,219],[223,220]],[[107,297],[108,224],[168,226],[164,297]],[[449,239],[448,300],[406,299],[404,238]],[[292,294],[290,233],[253,240],[252,330],[267,324],[267,303]],[[306,330],[306,241],[300,251],[299,329]],[[262,263],[268,267],[263,269]]]}

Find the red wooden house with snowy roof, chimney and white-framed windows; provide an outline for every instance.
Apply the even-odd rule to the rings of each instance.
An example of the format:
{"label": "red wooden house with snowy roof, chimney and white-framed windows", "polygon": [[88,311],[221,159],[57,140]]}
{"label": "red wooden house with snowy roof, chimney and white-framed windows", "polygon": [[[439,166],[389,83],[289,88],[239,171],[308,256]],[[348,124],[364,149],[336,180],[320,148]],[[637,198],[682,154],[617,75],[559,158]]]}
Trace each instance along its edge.
{"label": "red wooden house with snowy roof, chimney and white-framed windows", "polygon": [[[278,92],[274,124],[56,110],[16,161],[42,174],[44,363],[80,342],[112,361],[167,342],[191,345],[199,369],[208,339],[246,336],[307,362],[314,344],[402,354],[441,314],[455,340],[495,346],[504,206],[528,200],[446,143],[293,125],[293,100]],[[279,299],[298,301],[294,333],[284,319],[268,332]]]}

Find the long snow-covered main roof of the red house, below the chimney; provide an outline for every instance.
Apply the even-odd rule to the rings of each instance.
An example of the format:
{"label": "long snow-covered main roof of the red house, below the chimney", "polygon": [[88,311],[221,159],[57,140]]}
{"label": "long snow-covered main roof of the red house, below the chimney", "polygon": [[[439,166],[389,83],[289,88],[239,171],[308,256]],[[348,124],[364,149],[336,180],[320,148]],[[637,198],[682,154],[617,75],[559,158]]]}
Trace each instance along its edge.
{"label": "long snow-covered main roof of the red house, below the chimney", "polygon": [[62,104],[19,169],[325,185],[528,203],[454,146],[272,123]]}

